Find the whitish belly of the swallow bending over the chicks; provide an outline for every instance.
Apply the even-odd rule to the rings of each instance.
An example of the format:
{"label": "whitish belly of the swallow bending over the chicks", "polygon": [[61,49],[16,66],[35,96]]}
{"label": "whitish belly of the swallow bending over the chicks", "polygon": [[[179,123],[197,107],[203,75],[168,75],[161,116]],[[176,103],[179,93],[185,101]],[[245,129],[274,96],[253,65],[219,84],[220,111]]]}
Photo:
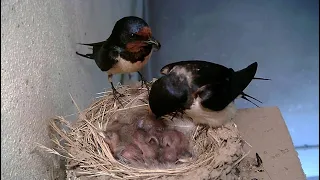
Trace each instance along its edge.
{"label": "whitish belly of the swallow bending over the chicks", "polygon": [[185,112],[190,116],[196,124],[207,124],[210,127],[216,128],[231,121],[236,114],[235,104],[230,103],[225,109],[221,111],[212,111],[201,105],[201,99],[198,97],[194,99],[190,109]]}

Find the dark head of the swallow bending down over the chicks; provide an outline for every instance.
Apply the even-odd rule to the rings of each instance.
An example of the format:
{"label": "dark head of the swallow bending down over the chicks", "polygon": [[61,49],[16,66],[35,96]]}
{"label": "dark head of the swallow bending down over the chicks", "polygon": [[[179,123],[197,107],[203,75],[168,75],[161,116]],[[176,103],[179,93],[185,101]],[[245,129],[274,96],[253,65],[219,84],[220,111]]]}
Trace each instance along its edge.
{"label": "dark head of the swallow bending down over the chicks", "polygon": [[156,80],[149,94],[149,106],[156,118],[181,111],[188,101],[189,86],[187,79],[169,74]]}

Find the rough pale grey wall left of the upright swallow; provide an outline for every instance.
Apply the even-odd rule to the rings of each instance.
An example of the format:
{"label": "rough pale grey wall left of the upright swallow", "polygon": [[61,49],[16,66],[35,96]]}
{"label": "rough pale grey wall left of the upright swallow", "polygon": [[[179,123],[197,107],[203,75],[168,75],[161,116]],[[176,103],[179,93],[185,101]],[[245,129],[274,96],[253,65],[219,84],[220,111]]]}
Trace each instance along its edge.
{"label": "rough pale grey wall left of the upright swallow", "polygon": [[53,163],[34,151],[48,145],[48,118],[75,112],[69,93],[83,109],[109,87],[76,43],[141,13],[142,1],[1,1],[1,179],[49,179]]}

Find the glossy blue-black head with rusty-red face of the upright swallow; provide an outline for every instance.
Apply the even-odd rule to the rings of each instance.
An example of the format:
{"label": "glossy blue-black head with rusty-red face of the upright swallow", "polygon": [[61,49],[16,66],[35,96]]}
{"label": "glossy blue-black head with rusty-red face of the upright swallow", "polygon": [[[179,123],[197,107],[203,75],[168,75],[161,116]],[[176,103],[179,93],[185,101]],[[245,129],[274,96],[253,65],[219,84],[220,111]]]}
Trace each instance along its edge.
{"label": "glossy blue-black head with rusty-red face of the upright swallow", "polygon": [[139,52],[143,47],[159,50],[161,44],[152,36],[151,28],[141,18],[128,16],[118,20],[111,37],[129,52]]}

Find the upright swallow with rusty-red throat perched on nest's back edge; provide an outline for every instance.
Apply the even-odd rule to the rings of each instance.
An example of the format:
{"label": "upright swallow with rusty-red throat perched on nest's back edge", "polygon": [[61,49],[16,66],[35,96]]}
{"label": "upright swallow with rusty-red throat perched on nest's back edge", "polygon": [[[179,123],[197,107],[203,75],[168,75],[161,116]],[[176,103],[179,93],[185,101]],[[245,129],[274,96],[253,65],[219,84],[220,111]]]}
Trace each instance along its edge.
{"label": "upright swallow with rusty-red throat perched on nest's back edge", "polygon": [[93,59],[101,71],[108,74],[108,81],[115,94],[112,76],[115,74],[138,72],[147,64],[153,50],[159,50],[161,44],[152,36],[151,28],[141,18],[135,16],[123,17],[118,20],[109,38],[102,42],[83,44],[91,46],[91,54],[77,55]]}

